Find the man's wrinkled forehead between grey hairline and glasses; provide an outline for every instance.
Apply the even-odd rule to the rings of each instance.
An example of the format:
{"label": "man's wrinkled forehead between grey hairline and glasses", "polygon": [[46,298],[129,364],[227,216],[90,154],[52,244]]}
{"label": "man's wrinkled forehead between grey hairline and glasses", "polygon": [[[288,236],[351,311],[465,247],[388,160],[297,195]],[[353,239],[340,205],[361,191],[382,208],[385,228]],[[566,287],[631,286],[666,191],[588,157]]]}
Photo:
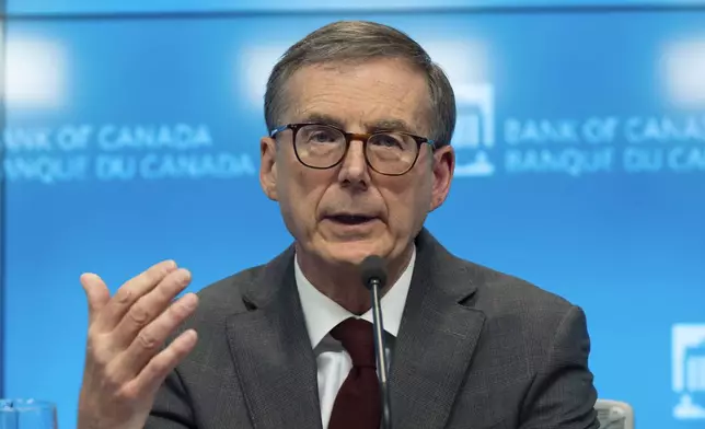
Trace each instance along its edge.
{"label": "man's wrinkled forehead between grey hairline and glasses", "polygon": [[401,60],[307,66],[289,79],[285,96],[286,123],[325,123],[365,132],[429,131],[426,79]]}

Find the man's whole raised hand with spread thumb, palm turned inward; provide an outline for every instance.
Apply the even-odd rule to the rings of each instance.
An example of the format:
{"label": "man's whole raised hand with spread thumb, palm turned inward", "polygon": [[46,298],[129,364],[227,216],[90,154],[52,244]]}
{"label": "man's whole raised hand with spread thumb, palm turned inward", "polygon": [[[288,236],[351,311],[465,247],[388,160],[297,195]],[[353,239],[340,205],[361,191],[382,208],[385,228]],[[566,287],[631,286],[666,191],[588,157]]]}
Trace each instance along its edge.
{"label": "man's whole raised hand with spread thumb, palm turned inward", "polygon": [[174,262],[157,264],[123,285],[113,298],[94,274],[81,276],[89,333],[79,429],[142,429],[166,375],[193,350],[196,332],[166,338],[196,310],[184,294],[190,274]]}

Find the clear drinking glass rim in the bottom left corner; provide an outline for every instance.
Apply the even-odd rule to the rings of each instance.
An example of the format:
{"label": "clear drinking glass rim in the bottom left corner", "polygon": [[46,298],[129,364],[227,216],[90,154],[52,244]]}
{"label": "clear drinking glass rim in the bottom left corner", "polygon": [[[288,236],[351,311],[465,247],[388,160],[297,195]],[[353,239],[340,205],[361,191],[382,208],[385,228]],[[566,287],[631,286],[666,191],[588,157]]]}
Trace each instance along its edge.
{"label": "clear drinking glass rim in the bottom left corner", "polygon": [[56,405],[37,399],[0,399],[0,429],[57,429]]}

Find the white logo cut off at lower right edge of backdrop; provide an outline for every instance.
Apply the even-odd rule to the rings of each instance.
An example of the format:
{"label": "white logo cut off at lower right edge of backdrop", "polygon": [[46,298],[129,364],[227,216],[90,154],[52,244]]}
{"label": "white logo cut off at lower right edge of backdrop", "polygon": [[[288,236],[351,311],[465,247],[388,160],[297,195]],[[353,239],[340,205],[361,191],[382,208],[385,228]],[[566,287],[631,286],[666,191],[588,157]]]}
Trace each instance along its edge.
{"label": "white logo cut off at lower right edge of backdrop", "polygon": [[673,417],[705,420],[705,324],[678,324],[672,335]]}

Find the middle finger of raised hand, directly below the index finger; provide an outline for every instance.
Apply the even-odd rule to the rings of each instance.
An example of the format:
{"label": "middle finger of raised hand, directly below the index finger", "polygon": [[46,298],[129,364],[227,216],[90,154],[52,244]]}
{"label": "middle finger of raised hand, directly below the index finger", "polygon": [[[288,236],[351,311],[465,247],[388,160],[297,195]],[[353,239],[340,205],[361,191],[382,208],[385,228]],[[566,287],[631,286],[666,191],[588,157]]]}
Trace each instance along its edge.
{"label": "middle finger of raised hand, directly below the index finger", "polygon": [[117,347],[127,347],[140,331],[169,308],[174,298],[190,281],[190,273],[180,268],[171,273],[149,293],[142,295],[113,331],[113,341]]}

